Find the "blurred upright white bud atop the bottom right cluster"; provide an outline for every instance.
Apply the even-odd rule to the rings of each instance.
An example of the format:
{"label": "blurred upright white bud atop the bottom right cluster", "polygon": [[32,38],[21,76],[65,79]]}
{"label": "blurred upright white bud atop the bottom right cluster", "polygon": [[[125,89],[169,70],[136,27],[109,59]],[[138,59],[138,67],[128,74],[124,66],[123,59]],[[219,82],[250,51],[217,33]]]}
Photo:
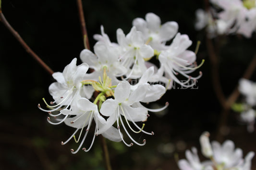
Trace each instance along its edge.
{"label": "blurred upright white bud atop the bottom right cluster", "polygon": [[209,141],[209,136],[209,132],[204,132],[199,138],[201,144],[201,151],[203,155],[207,158],[211,158],[213,154],[211,144]]}

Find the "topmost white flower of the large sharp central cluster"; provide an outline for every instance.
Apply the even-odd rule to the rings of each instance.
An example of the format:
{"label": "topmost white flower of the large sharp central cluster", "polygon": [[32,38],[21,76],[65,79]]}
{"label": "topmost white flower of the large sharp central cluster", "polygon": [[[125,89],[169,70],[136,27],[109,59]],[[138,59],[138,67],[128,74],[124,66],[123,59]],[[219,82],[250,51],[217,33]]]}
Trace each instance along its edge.
{"label": "topmost white flower of the large sharp central cluster", "polygon": [[165,49],[165,43],[178,31],[178,23],[167,22],[161,25],[160,18],[154,13],[146,14],[146,21],[142,18],[135,18],[133,25],[141,31],[144,38],[149,40],[148,45],[158,51]]}

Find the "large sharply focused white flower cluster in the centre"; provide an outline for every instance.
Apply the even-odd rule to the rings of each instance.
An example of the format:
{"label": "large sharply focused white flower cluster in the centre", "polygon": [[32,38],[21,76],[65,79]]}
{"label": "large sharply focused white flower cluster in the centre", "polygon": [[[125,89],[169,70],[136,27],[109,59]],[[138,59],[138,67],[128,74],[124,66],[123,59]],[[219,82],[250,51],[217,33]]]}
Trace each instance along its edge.
{"label": "large sharply focused white flower cluster in the centre", "polygon": [[[192,87],[195,80],[202,76],[201,72],[197,77],[188,75],[200,67],[203,61],[199,66],[196,65],[195,53],[187,50],[192,41],[187,35],[177,32],[176,22],[161,25],[160,18],[154,13],[147,13],[146,20],[134,19],[133,27],[127,35],[118,29],[117,43],[110,41],[101,26],[101,34],[94,35],[98,41],[94,45],[94,53],[84,49],[80,54],[83,62],[81,65],[76,66],[77,59],[74,58],[62,73],[55,72],[52,76],[57,82],[49,86],[54,102],[48,104],[43,99],[49,109],[38,105],[39,109],[56,117],[54,122],[48,117],[50,124],[64,122],[76,128],[73,135],[61,144],[66,144],[72,138],[78,143],[81,138],[78,149],[71,150],[77,153],[90,127],[94,125],[91,146],[83,148],[86,152],[99,134],[112,141],[123,141],[129,147],[133,143],[145,145],[145,139],[139,143],[129,131],[153,135],[153,132],[143,130],[144,123],[140,127],[136,122],[145,122],[149,116],[148,111],[162,111],[168,103],[159,109],[146,108],[142,103],[160,99],[167,89],[171,89],[174,81],[183,87]],[[172,38],[171,45],[166,45]],[[149,62],[152,57],[158,59],[159,68]],[[89,68],[93,72],[88,73]],[[177,74],[181,74],[185,80],[178,79]],[[57,113],[53,114],[55,111]],[[124,140],[121,128],[133,143]],[[79,136],[78,139],[75,135]]]}

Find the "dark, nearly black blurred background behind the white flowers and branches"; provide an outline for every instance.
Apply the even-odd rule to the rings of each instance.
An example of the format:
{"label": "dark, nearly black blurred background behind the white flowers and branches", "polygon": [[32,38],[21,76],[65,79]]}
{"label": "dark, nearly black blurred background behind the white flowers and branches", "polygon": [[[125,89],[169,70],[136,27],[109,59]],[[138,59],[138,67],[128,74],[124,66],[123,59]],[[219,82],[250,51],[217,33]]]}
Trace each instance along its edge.
{"label": "dark, nearly black blurred background behind the white flowers and branches", "polygon": [[[165,112],[150,113],[146,131],[154,136],[139,134],[134,138],[145,146],[126,147],[122,142],[107,140],[110,160],[114,170],[178,170],[176,160],[183,159],[186,149],[195,146],[200,150],[199,136],[204,131],[215,140],[221,106],[213,91],[211,65],[207,55],[204,31],[194,28],[195,10],[204,8],[203,0],[83,0],[85,21],[91,49],[100,34],[100,25],[112,42],[116,30],[129,33],[136,17],[145,18],[154,12],[162,23],[176,21],[179,32],[188,34],[193,41],[189,48],[195,51],[201,41],[197,62],[205,64],[192,75],[203,72],[195,89],[168,91],[158,102],[147,107],[170,105]],[[63,0],[2,0],[2,11],[24,41],[54,71],[61,71],[74,57],[79,58],[84,48],[76,1]],[[256,53],[256,36],[246,39],[230,35],[222,38],[220,45],[219,75],[224,94],[228,96],[236,87],[244,70]],[[78,61],[80,64],[81,61]],[[256,81],[256,74],[251,77]],[[47,113],[37,108],[42,98],[51,100],[49,85],[54,79],[30,57],[12,34],[0,24],[0,170],[104,170],[99,138],[91,151],[73,155],[71,148],[78,145],[71,140],[73,134],[66,125],[50,125]],[[242,97],[239,98],[239,100]],[[238,113],[230,112],[224,139],[234,141],[244,151],[256,151],[256,132],[248,133],[246,125],[238,120]],[[84,143],[89,146],[91,139]],[[201,160],[205,160],[199,151]],[[254,170],[256,158],[253,159]]]}

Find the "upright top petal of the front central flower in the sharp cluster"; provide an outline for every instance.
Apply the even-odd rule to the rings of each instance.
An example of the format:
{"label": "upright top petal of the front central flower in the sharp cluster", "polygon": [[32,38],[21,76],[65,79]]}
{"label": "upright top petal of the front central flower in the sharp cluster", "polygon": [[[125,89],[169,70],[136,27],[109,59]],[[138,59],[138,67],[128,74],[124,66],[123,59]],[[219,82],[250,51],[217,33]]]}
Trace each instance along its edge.
{"label": "upright top petal of the front central flower in the sharp cluster", "polygon": [[128,81],[121,81],[115,89],[115,100],[120,103],[128,99],[131,91],[131,85]]}

